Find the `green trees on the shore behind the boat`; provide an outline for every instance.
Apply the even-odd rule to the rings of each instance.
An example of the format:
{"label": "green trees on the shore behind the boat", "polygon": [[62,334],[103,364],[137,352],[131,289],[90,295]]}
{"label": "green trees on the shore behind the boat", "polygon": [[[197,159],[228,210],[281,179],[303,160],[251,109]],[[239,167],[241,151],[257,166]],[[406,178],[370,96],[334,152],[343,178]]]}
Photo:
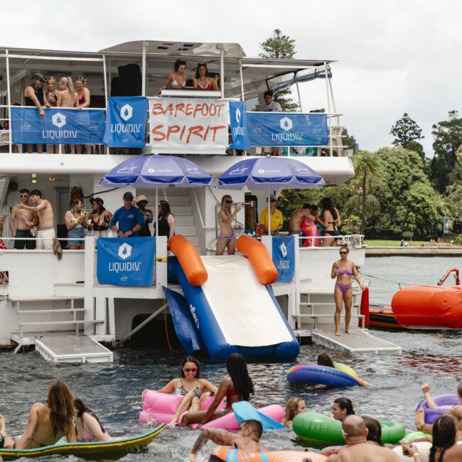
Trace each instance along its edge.
{"label": "green trees on the shore behind the boat", "polygon": [[[263,58],[294,57],[295,41],[279,29],[260,43]],[[285,111],[296,111],[291,91],[274,95]],[[433,125],[434,157],[428,158],[419,140],[422,130],[407,113],[391,128],[392,145],[376,152],[353,154],[355,178],[340,186],[318,190],[284,190],[278,208],[289,221],[292,210],[304,203],[332,198],[340,212],[345,234],[368,238],[441,237],[444,217],[450,218],[453,234],[461,233],[462,244],[462,118],[448,112],[448,118]],[[355,139],[343,132],[343,144],[355,150]]]}

